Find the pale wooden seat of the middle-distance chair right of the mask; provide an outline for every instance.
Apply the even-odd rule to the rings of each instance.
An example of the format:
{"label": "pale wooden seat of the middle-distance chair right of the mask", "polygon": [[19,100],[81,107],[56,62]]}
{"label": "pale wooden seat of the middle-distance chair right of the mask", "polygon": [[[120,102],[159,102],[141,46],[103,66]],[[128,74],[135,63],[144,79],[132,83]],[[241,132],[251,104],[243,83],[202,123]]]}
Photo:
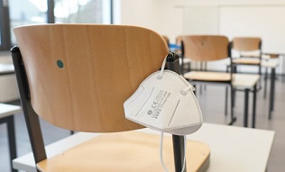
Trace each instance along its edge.
{"label": "pale wooden seat of the middle-distance chair right of the mask", "polygon": [[230,73],[225,72],[192,71],[184,74],[184,77],[190,80],[209,82],[229,82],[231,80]]}

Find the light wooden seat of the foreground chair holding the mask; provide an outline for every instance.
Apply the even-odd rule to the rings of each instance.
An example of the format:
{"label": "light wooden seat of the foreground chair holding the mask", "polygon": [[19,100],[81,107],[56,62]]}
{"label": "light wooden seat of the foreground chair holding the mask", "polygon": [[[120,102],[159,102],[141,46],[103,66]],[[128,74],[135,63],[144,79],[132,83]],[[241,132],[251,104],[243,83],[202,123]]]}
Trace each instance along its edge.
{"label": "light wooden seat of the foreground chair holding the mask", "polygon": [[[187,170],[207,169],[210,149],[207,144],[188,140]],[[174,171],[172,140],[163,140],[163,159]],[[145,172],[163,171],[160,161],[160,136],[139,131],[106,133],[37,164],[41,171]]]}

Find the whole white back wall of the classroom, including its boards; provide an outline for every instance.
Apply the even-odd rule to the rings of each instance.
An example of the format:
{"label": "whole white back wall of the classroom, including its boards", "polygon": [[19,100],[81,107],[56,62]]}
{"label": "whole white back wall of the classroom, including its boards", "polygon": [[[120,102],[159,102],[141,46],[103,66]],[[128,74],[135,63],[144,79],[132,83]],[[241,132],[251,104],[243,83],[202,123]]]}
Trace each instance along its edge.
{"label": "whole white back wall of the classroom, including its boards", "polygon": [[[226,18],[226,10],[232,11],[253,7],[253,14],[240,14],[240,18],[233,21],[238,24],[237,29],[227,29],[231,23]],[[264,7],[270,7],[267,18],[261,17],[253,22],[259,14],[266,14]],[[199,9],[199,10],[198,10]],[[255,15],[254,15],[255,14]],[[239,15],[237,15],[239,16]],[[241,20],[249,19],[241,23]],[[254,18],[254,19],[255,19]],[[256,33],[264,37],[262,49],[267,52],[285,52],[285,0],[121,0],[121,23],[134,24],[150,28],[161,34],[168,35],[174,42],[180,34],[223,34],[232,38],[234,36],[250,36]],[[263,22],[263,23],[262,23]],[[269,23],[267,24],[266,23]],[[253,27],[249,26],[253,24]],[[264,27],[258,25],[264,24]],[[203,29],[202,29],[203,28]],[[241,30],[240,28],[246,28]],[[284,28],[284,29],[283,29]],[[282,31],[284,35],[282,35]],[[244,33],[247,32],[245,35]],[[258,33],[258,34],[257,34]],[[263,40],[263,39],[262,39]],[[284,62],[280,65],[285,68]],[[284,64],[282,64],[284,63]],[[278,73],[285,71],[277,70]]]}

